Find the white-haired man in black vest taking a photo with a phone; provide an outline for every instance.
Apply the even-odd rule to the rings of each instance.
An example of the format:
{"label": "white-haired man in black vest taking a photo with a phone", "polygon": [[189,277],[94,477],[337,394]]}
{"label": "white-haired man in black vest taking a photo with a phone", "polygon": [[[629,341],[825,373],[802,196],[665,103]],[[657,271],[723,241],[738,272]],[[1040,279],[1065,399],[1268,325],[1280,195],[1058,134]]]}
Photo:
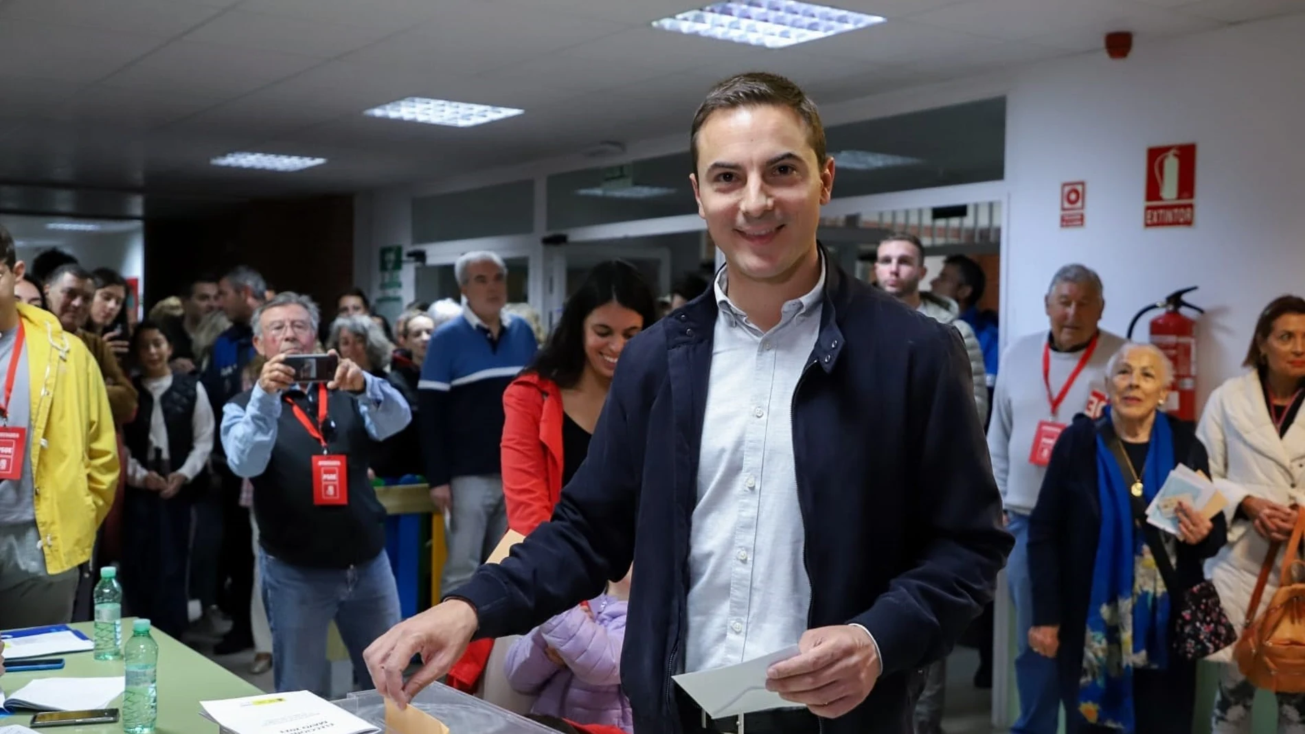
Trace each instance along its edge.
{"label": "white-haired man in black vest taking a photo with a phone", "polygon": [[360,675],[363,649],[399,621],[385,508],[367,478],[377,442],[411,420],[385,378],[339,360],[330,382],[296,382],[287,355],[311,352],[320,312],[284,292],[253,312],[258,382],[223,407],[227,465],[253,484],[258,567],[278,691],[326,695],[331,621]]}

